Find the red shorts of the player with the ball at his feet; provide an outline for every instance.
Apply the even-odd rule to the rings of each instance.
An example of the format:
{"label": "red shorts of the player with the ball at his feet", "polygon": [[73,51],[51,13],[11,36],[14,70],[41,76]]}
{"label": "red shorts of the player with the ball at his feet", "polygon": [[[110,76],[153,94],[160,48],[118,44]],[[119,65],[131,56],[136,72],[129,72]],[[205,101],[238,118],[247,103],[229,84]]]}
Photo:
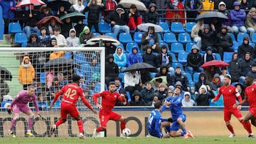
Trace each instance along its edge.
{"label": "red shorts of the player with the ball at his feet", "polygon": [[100,111],[100,126],[107,127],[107,121],[119,121],[122,116],[112,111],[111,113],[105,113]]}

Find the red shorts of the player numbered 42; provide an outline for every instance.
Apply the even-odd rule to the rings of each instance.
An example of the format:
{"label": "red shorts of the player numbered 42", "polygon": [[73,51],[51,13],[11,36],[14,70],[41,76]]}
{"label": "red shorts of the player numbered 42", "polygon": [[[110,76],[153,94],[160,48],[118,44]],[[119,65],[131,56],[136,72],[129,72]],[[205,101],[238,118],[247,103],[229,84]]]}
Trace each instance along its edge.
{"label": "red shorts of the player numbered 42", "polygon": [[76,106],[65,106],[62,104],[60,108],[60,117],[67,118],[68,114],[73,118],[77,118],[79,116],[78,108]]}

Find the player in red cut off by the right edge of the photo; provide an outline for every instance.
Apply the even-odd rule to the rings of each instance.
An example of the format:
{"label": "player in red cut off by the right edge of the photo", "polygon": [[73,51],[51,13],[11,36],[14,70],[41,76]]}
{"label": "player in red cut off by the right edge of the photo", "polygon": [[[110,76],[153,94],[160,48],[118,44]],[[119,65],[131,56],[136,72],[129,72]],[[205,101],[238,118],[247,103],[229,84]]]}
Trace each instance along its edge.
{"label": "player in red cut off by the right edge of the photo", "polygon": [[[249,113],[245,116],[245,122],[251,121],[252,125],[256,126],[256,84],[253,83],[253,80],[253,76],[250,74],[245,77],[245,84],[247,85],[245,99],[242,99],[239,104],[235,104],[234,107],[248,102]],[[253,138],[252,133],[248,135],[248,138]]]}

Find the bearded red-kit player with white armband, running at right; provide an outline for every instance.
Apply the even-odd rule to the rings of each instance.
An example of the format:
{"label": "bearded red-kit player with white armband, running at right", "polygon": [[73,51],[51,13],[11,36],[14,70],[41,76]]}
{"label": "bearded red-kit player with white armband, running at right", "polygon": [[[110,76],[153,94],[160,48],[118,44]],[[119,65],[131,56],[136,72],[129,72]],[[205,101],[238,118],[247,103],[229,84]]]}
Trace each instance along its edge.
{"label": "bearded red-kit player with white armband, running at right", "polygon": [[235,131],[233,130],[233,126],[230,124],[231,115],[233,114],[240,123],[242,123],[242,126],[244,126],[245,130],[248,133],[252,133],[250,130],[250,123],[246,123],[242,119],[242,113],[239,109],[241,109],[241,106],[235,107],[234,104],[236,103],[236,98],[238,98],[238,101],[242,101],[242,97],[240,96],[238,89],[236,89],[233,85],[230,84],[231,82],[231,76],[230,74],[225,74],[223,79],[223,86],[220,87],[219,92],[217,96],[215,96],[214,99],[211,100],[211,102],[218,101],[220,98],[220,95],[223,94],[223,101],[224,101],[224,121],[228,128],[228,130],[231,132],[229,138],[233,138],[235,136]]}

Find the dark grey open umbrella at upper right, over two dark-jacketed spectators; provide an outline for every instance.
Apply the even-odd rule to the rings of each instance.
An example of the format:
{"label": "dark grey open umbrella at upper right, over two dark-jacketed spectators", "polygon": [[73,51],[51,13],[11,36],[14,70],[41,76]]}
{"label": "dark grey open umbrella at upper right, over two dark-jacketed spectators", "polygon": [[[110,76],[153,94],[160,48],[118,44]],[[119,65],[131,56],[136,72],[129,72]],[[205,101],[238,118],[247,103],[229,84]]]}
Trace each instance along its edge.
{"label": "dark grey open umbrella at upper right, over two dark-jacketed spectators", "polygon": [[203,20],[203,23],[210,24],[213,23],[213,18],[218,18],[219,23],[224,23],[228,21],[228,17],[218,11],[209,11],[207,13],[202,13],[196,18],[196,21]]}

